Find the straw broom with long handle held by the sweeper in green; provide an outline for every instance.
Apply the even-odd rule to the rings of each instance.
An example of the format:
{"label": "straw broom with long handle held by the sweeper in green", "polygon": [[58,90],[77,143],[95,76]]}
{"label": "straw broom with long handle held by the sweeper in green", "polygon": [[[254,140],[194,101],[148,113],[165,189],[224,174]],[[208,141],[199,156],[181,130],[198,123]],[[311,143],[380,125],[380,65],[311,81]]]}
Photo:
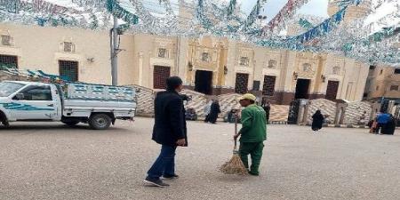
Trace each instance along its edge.
{"label": "straw broom with long handle held by the sweeper in green", "polygon": [[[235,117],[235,134],[237,132],[237,116]],[[237,141],[235,139],[235,147],[233,150],[232,158],[226,163],[220,166],[220,172],[225,174],[238,174],[245,175],[248,173],[246,167],[244,166],[242,159],[240,159],[239,151],[237,150]]]}

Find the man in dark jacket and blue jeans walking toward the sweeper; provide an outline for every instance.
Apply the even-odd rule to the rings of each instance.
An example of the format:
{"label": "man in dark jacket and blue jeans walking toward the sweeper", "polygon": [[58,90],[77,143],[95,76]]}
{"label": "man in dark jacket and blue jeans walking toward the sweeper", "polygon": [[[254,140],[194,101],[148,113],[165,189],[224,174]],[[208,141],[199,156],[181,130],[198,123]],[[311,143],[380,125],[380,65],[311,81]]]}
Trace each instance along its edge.
{"label": "man in dark jacket and blue jeans walking toward the sweeper", "polygon": [[156,187],[166,187],[164,180],[177,179],[175,174],[175,150],[178,146],[187,145],[186,121],[183,100],[179,92],[182,90],[180,77],[167,79],[167,90],[158,92],[155,100],[155,125],[153,140],[161,144],[160,156],[148,170],[145,183]]}

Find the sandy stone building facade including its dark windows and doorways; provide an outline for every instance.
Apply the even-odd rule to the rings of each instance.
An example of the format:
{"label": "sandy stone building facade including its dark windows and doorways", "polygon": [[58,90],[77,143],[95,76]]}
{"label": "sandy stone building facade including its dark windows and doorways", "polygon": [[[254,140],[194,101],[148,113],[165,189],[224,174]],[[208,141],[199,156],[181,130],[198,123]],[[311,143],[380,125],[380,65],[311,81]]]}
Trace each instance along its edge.
{"label": "sandy stone building facade including its dark windows and doorways", "polygon": [[[329,6],[329,12],[334,9]],[[352,9],[351,19],[364,13],[364,7]],[[189,12],[180,10],[185,18]],[[0,34],[2,64],[111,83],[108,31],[0,24]],[[166,77],[180,76],[188,89],[207,95],[252,92],[283,105],[292,99],[362,100],[369,73],[368,64],[333,54],[273,50],[212,36],[125,34],[119,48],[118,84],[163,89]]]}

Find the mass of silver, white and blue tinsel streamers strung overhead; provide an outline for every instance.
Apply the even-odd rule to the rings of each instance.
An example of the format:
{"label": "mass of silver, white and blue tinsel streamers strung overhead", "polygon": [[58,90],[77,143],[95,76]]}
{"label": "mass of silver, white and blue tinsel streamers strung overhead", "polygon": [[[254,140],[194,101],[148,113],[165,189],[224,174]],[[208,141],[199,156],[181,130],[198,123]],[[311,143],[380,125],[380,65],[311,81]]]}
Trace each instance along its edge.
{"label": "mass of silver, white and blue tinsel streamers strung overhead", "polygon": [[[159,0],[148,7],[144,5],[145,0],[70,0],[72,4],[64,6],[49,1],[0,0],[0,21],[101,29],[110,28],[110,16],[115,15],[126,22],[120,28],[132,33],[221,36],[275,49],[328,52],[366,62],[400,63],[400,52],[394,48],[400,27],[400,20],[396,22],[398,8],[391,9],[393,12],[380,20],[361,19],[346,26],[342,23],[348,7],[361,4],[362,0],[335,1],[339,12],[327,20],[301,16],[294,19],[293,14],[308,0],[288,0],[265,27],[257,20],[267,0],[257,0],[248,15],[240,10],[237,0],[180,2],[187,6],[188,13],[193,13],[193,19],[175,13],[171,0]],[[156,10],[155,6],[162,11]],[[305,32],[298,36],[280,35],[289,23],[300,25]]]}

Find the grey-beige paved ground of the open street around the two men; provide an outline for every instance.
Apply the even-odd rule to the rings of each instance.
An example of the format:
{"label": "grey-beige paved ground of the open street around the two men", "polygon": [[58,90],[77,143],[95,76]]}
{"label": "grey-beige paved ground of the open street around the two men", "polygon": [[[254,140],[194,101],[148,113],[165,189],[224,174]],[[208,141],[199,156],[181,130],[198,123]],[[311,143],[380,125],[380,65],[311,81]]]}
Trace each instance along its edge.
{"label": "grey-beige paved ground of the open street around the two men", "polygon": [[16,124],[0,129],[0,199],[399,199],[400,132],[271,125],[260,177],[220,174],[232,124],[189,123],[178,150],[180,180],[143,187],[159,147],[152,119],[98,132],[82,125]]}

